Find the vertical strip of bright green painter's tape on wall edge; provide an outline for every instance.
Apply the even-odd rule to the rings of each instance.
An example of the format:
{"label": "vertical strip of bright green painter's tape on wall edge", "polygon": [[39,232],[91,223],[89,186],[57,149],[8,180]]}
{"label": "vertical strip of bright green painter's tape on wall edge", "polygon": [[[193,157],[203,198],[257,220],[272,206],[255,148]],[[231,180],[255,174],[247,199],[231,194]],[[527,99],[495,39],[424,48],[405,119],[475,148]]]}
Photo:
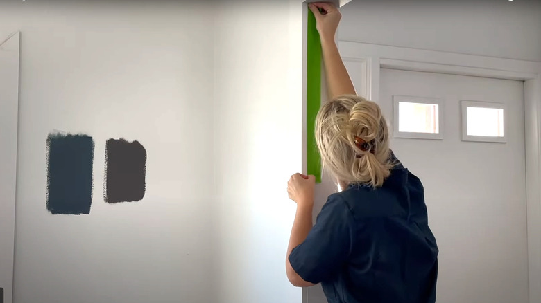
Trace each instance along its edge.
{"label": "vertical strip of bright green painter's tape on wall edge", "polygon": [[316,116],[321,106],[321,42],[316,17],[311,10],[308,10],[306,68],[307,173],[316,176],[316,182],[320,183],[321,156],[316,145]]}

